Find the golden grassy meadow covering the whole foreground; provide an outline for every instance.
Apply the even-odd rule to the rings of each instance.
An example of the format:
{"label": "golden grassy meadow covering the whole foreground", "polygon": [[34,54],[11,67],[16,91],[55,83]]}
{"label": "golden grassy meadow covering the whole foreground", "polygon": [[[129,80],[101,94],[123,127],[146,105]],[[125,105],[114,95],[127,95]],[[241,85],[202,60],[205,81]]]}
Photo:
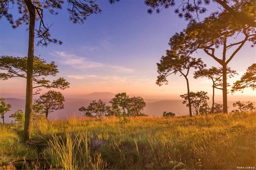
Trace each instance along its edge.
{"label": "golden grassy meadow covering the whole foreground", "polygon": [[[0,166],[33,169],[236,169],[255,167],[256,113],[194,117],[69,118],[0,124]],[[42,144],[47,144],[44,146]],[[35,162],[31,161],[40,158]]]}

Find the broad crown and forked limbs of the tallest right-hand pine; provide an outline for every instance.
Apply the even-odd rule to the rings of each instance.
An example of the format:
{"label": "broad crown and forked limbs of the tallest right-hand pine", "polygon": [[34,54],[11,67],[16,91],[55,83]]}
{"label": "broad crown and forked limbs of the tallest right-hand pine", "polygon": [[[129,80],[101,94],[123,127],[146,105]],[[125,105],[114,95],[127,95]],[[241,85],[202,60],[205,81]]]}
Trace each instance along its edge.
{"label": "broad crown and forked limbs of the tallest right-hand pine", "polygon": [[[241,8],[246,11],[248,6],[242,6]],[[234,43],[227,44],[229,37],[237,36],[239,33],[244,37]],[[223,64],[224,62],[228,64],[246,41],[252,41],[255,44],[255,33],[254,27],[235,23],[228,12],[213,13],[202,22],[189,23],[186,29],[170,38],[169,45],[172,50],[180,51],[182,54],[193,53],[197,49],[203,49],[207,55],[218,63]],[[218,59],[214,53],[214,47],[218,48],[220,45],[223,45],[226,51],[233,49],[232,47],[237,48],[231,52],[227,60],[226,58]]]}

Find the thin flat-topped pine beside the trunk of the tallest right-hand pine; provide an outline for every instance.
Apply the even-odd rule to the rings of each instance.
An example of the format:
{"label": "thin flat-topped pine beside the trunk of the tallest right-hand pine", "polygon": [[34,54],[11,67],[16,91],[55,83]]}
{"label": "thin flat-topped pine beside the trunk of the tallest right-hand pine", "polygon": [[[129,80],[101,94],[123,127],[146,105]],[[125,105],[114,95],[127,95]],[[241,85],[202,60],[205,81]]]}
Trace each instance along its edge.
{"label": "thin flat-topped pine beside the trunk of the tallest right-hand pine", "polygon": [[[227,67],[227,76],[229,78],[234,77],[234,74],[237,74],[236,71],[231,70],[230,67]],[[212,109],[211,112],[214,113],[214,89],[220,89],[222,90],[222,69],[217,68],[217,67],[212,67],[209,69],[202,68],[200,70],[197,70],[194,72],[194,78],[199,78],[199,77],[206,77],[210,80],[212,80]],[[230,86],[227,84],[227,86]],[[222,111],[221,111],[222,112]],[[210,112],[208,112],[210,113]],[[220,113],[220,112],[218,112]]]}

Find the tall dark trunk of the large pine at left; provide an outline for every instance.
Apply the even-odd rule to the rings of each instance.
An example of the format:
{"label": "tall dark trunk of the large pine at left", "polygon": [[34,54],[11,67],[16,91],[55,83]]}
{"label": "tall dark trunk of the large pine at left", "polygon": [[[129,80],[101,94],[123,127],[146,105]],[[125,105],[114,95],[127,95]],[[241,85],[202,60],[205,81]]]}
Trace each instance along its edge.
{"label": "tall dark trunk of the large pine at left", "polygon": [[24,123],[24,141],[28,141],[30,140],[30,119],[31,119],[31,112],[32,112],[34,29],[35,29],[35,22],[36,22],[36,9],[31,0],[24,0],[24,1],[29,11],[26,107],[25,107],[25,123]]}

